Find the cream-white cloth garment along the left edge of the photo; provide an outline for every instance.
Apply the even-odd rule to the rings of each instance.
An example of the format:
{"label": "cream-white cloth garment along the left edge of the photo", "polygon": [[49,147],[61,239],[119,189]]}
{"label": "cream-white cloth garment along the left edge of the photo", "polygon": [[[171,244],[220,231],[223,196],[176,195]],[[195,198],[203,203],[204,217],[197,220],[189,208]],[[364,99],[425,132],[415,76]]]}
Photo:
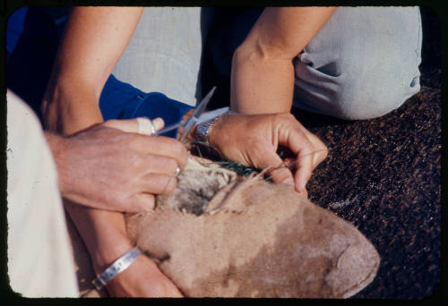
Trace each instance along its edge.
{"label": "cream-white cloth garment along the left edge of the photo", "polygon": [[7,95],[8,276],[26,297],[79,296],[56,165],[37,116]]}

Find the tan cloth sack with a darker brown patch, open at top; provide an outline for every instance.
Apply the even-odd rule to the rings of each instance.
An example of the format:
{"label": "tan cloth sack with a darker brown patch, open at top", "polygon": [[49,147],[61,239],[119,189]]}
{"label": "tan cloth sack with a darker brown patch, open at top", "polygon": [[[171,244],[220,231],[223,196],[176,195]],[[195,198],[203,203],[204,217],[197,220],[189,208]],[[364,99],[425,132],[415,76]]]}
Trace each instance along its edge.
{"label": "tan cloth sack with a darker brown patch, open at top", "polygon": [[186,296],[346,298],[374,279],[380,257],[355,226],[293,187],[198,161],[155,209],[126,217]]}

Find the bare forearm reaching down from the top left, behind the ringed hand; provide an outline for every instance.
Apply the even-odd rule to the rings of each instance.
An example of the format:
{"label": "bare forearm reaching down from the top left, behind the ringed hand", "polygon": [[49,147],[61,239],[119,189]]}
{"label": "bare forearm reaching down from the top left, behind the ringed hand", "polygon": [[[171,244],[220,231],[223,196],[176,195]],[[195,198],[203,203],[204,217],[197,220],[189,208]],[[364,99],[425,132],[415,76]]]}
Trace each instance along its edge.
{"label": "bare forearm reaching down from the top left, behind the ringed hand", "polygon": [[43,101],[46,127],[70,134],[103,121],[99,95],[142,7],[74,7]]}

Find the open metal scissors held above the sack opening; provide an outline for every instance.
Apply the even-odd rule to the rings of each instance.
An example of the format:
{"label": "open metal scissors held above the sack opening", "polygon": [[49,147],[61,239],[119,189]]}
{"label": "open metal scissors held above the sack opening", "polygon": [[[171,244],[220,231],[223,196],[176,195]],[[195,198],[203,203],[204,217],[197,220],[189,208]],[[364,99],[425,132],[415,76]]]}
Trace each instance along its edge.
{"label": "open metal scissors held above the sack opening", "polygon": [[182,141],[185,139],[186,135],[188,135],[188,132],[190,132],[191,129],[195,125],[197,125],[199,123],[206,122],[208,120],[211,120],[213,118],[216,118],[216,117],[226,113],[228,111],[228,107],[218,108],[211,112],[202,114],[203,111],[205,110],[205,107],[207,106],[207,104],[209,104],[209,101],[211,100],[211,96],[213,96],[215,89],[216,89],[216,86],[214,86],[209,91],[209,93],[202,99],[202,101],[198,104],[198,106],[194,110],[193,115],[191,115],[190,118],[188,118],[184,121],[180,121],[178,123],[171,124],[171,125],[167,126],[166,128],[164,128],[158,132],[155,132],[153,135],[161,135],[165,132],[172,131],[172,130],[177,129],[178,127],[182,126],[184,128],[184,132],[182,132],[182,135],[180,136],[180,139],[179,139],[180,141]]}

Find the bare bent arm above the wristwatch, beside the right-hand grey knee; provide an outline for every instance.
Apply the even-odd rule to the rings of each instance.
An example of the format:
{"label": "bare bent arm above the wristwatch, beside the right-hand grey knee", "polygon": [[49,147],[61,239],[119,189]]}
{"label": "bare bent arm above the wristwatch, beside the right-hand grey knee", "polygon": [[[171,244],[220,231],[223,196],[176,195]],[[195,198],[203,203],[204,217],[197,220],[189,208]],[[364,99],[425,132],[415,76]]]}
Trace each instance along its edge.
{"label": "bare bent arm above the wristwatch, beside the right-hand grey knee", "polygon": [[240,114],[289,113],[294,58],[334,7],[268,7],[232,59],[230,107]]}

